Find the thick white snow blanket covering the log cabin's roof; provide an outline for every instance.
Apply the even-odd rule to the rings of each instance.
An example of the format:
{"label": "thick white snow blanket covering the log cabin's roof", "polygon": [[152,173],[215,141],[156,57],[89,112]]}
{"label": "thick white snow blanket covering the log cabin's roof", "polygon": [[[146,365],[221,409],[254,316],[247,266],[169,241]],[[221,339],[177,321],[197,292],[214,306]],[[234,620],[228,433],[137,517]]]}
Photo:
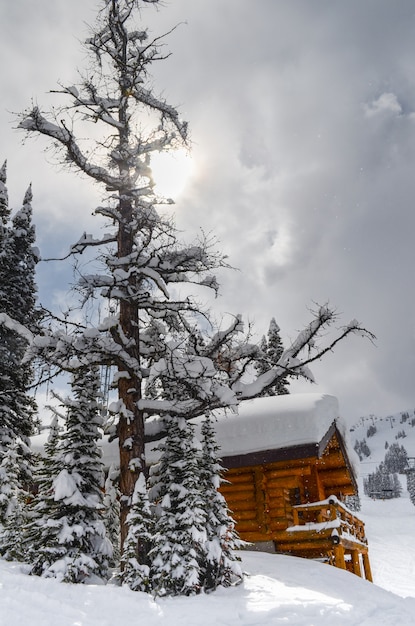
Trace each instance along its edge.
{"label": "thick white snow blanket covering the log cabin's roof", "polygon": [[[287,394],[245,400],[238,413],[217,412],[215,430],[220,446],[220,456],[225,467],[235,466],[250,458],[256,462],[269,460],[268,452],[276,458],[303,458],[320,456],[335,430],[340,433],[347,459],[356,474],[355,452],[348,445],[347,429],[339,417],[337,398],[326,394]],[[196,431],[203,418],[194,420]],[[41,452],[48,431],[32,438],[32,448]],[[157,460],[157,444],[146,446],[147,462]],[[102,441],[103,459],[106,467],[119,463],[118,442]],[[257,454],[255,454],[257,453]],[[279,458],[279,457],[278,457]],[[254,464],[253,462],[250,464]]]}

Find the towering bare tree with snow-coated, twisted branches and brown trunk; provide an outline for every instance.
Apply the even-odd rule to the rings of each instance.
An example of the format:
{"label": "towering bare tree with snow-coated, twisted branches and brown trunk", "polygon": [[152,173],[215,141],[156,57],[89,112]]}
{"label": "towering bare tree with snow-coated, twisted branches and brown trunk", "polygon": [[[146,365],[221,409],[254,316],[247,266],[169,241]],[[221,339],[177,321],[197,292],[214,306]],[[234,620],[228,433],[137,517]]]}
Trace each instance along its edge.
{"label": "towering bare tree with snow-coated, twisted branches and brown trunk", "polygon": [[[102,271],[83,276],[78,289],[84,301],[96,295],[107,298],[108,309],[116,313],[96,327],[82,327],[79,320],[71,327],[66,318],[65,325],[33,336],[28,355],[43,358],[58,370],[76,372],[94,363],[117,368],[118,402],[112,409],[118,419],[122,540],[134,486],[144,470],[146,437],[165,436],[172,419],[189,419],[257,397],[287,375],[312,380],[308,365],[341,339],[352,333],[370,336],[353,321],[320,345],[318,338],[335,322],[336,313],[319,307],[278,362],[247,382],[246,372],[259,349],[244,336],[241,318],[235,316],[228,327],[218,330],[209,326],[200,305],[187,295],[189,284],[216,292],[212,271],[226,264],[204,237],[192,245],[181,244],[154,192],[151,155],[186,145],[188,139],[187,124],[152,85],[151,65],[166,53],[163,39],[151,38],[137,24],[139,9],[147,4],[161,3],[103,0],[98,23],[86,42],[93,67],[79,85],[56,91],[64,99],[59,109],[44,113],[36,106],[20,122],[26,132],[49,138],[62,163],[89,177],[106,194],[96,214],[107,220],[108,231],[99,237],[84,233],[70,254],[97,251]],[[178,293],[186,295],[175,297]],[[8,318],[3,322],[17,328]],[[27,329],[19,328],[28,337]],[[200,341],[203,332],[206,336]],[[145,395],[149,380],[156,389],[152,397]],[[164,394],[157,394],[160,389]],[[145,429],[148,418],[151,427]]]}

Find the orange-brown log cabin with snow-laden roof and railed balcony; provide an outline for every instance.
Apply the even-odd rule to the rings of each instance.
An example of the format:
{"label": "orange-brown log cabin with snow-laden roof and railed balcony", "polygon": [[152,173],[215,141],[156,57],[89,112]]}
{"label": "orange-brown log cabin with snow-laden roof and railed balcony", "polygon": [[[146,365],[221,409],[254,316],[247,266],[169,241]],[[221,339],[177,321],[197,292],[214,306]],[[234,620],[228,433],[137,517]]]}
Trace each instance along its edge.
{"label": "orange-brown log cabin with snow-laden roof and railed balcony", "polygon": [[357,494],[358,459],[336,398],[258,398],[219,416],[216,432],[242,539],[372,580],[364,524],[344,504]]}

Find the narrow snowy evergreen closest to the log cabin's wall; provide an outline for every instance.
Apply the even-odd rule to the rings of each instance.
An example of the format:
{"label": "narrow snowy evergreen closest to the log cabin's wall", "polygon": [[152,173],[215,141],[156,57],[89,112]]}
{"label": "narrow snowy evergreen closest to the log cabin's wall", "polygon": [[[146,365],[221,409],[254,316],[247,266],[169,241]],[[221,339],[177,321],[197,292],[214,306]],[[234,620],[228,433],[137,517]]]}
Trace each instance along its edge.
{"label": "narrow snowy evergreen closest to the log cabin's wall", "polygon": [[218,445],[212,419],[206,415],[201,429],[202,457],[199,488],[204,502],[206,555],[202,560],[202,578],[205,591],[219,585],[228,587],[242,580],[240,560],[236,550],[244,543],[235,531],[235,522],[223,495],[218,491],[223,468],[218,458]]}

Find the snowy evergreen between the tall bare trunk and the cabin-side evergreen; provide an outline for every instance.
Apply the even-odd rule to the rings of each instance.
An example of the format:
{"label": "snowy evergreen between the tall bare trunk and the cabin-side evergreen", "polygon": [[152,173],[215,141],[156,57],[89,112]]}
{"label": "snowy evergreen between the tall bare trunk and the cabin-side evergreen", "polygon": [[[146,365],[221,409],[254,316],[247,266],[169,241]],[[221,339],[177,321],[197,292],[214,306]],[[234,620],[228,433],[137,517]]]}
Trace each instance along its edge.
{"label": "snowy evergreen between the tall bare trunk and the cabin-side evergreen", "polygon": [[161,445],[154,547],[150,551],[151,580],[156,595],[193,595],[203,584],[206,558],[206,503],[201,497],[198,450],[191,424],[184,418],[169,420]]}

